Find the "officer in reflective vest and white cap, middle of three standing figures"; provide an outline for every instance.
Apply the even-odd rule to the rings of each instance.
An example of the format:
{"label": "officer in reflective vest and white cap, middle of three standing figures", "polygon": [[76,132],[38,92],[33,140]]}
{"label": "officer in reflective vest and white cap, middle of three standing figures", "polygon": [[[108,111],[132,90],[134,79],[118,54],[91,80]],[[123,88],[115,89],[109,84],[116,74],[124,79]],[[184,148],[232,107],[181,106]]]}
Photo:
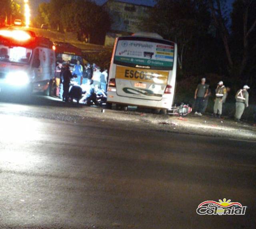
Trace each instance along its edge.
{"label": "officer in reflective vest and white cap, middle of three standing figures", "polygon": [[216,93],[216,99],[213,107],[213,112],[214,112],[214,117],[218,116],[218,118],[220,118],[222,114],[222,104],[227,97],[227,89],[223,85],[223,81],[220,81],[218,83],[215,93]]}

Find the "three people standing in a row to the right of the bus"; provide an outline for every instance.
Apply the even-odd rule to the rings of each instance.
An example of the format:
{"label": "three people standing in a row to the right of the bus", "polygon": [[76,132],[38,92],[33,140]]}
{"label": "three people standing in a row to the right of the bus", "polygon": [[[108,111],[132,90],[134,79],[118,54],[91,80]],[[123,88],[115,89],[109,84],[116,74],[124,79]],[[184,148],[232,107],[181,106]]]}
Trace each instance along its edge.
{"label": "three people standing in a row to the right of the bus", "polygon": [[[244,85],[244,87],[236,93],[236,113],[234,118],[237,122],[240,122],[242,114],[244,113],[244,109],[249,106],[249,94],[248,94],[248,85]],[[215,101],[213,107],[213,116],[220,118],[222,115],[222,106],[225,103],[226,98],[228,96],[228,92],[230,91],[229,87],[225,87],[223,81],[220,81],[215,89]],[[211,95],[211,90],[209,85],[206,84],[206,79],[202,78],[201,83],[199,83],[196,87],[195,91],[195,107],[194,111],[196,115],[202,116],[205,112],[206,107],[208,105],[208,99]]]}

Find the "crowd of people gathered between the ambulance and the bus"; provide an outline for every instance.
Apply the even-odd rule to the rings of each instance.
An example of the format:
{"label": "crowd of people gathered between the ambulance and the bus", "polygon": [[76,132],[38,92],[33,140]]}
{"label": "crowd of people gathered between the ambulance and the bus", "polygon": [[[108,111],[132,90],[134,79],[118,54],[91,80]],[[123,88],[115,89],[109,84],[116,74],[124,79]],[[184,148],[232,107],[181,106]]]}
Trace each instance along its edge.
{"label": "crowd of people gathered between the ambulance and the bus", "polygon": [[106,95],[108,71],[104,69],[101,72],[100,67],[96,64],[90,65],[90,63],[83,67],[79,60],[74,65],[72,71],[69,64],[62,65],[62,63],[58,63],[56,67],[56,81],[59,81],[57,94],[65,102],[68,102],[70,97],[72,97],[70,95],[72,93],[70,91],[72,86],[79,87],[83,94],[86,94],[88,91],[92,92],[92,89],[94,89]]}

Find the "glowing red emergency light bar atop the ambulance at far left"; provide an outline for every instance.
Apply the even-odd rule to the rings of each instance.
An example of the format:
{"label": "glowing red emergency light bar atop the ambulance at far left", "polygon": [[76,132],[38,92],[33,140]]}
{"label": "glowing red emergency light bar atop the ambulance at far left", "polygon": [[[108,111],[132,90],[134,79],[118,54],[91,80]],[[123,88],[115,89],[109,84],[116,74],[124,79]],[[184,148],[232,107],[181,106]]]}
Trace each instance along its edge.
{"label": "glowing red emergency light bar atop the ambulance at far left", "polygon": [[0,36],[13,39],[15,41],[28,41],[34,34],[32,32],[26,32],[23,30],[0,30]]}

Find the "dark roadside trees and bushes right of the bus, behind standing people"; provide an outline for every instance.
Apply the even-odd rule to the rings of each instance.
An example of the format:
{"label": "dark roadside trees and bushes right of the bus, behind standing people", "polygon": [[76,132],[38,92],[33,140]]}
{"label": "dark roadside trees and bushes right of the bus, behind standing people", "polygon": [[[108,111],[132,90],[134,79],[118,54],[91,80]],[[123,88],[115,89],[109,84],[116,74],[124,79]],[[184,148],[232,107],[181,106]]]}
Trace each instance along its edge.
{"label": "dark roadside trees and bushes right of the bus, behind standing people", "polygon": [[254,0],[235,0],[232,11],[225,0],[156,0],[142,26],[178,43],[177,97],[190,98],[206,77],[212,89],[222,79],[232,96],[248,84],[255,101],[255,12]]}

